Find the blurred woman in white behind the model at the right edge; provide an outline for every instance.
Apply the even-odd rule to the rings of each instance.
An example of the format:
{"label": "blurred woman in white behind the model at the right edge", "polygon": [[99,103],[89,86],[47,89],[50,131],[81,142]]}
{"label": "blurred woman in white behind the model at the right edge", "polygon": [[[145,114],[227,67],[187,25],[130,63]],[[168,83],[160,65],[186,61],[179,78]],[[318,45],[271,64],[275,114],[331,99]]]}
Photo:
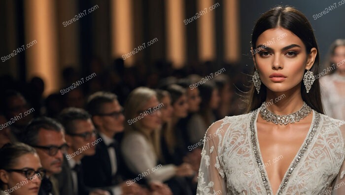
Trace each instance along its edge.
{"label": "blurred woman in white behind the model at the right edge", "polygon": [[345,120],[345,39],[332,43],[328,61],[323,72],[331,74],[320,78],[322,104],[328,116]]}

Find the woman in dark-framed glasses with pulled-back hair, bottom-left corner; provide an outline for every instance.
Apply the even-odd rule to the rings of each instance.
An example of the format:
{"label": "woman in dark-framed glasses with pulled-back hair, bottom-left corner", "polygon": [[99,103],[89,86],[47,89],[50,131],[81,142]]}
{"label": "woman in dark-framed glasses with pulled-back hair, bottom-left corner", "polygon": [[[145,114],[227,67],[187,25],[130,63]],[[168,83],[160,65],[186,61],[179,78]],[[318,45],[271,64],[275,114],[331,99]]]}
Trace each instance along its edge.
{"label": "woman in dark-framed glasses with pulled-back hair, bottom-left corner", "polygon": [[34,148],[23,143],[0,149],[0,195],[37,195],[44,177]]}

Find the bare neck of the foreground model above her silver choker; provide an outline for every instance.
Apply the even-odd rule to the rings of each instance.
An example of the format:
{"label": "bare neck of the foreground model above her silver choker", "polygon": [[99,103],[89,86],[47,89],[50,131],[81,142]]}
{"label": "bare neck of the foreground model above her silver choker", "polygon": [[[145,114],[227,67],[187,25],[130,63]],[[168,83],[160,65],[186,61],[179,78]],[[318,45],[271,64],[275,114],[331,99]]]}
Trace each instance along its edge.
{"label": "bare neck of the foreground model above her silver choker", "polygon": [[298,111],[303,105],[301,84],[285,92],[273,92],[267,89],[267,109],[277,115],[287,115]]}

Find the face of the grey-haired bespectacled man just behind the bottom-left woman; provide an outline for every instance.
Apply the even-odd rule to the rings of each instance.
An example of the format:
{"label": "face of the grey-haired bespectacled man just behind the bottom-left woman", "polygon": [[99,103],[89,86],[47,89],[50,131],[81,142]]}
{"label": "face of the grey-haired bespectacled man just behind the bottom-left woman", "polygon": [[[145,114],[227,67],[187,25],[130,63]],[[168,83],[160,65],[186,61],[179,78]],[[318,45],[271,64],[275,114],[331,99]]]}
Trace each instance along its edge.
{"label": "face of the grey-haired bespectacled man just behind the bottom-left woman", "polygon": [[[41,129],[38,132],[38,146],[57,146],[60,147],[66,143],[63,132],[55,130]],[[62,170],[63,152],[59,150],[54,156],[48,154],[48,150],[35,148],[41,160],[42,166],[47,170],[47,175],[60,173]]]}

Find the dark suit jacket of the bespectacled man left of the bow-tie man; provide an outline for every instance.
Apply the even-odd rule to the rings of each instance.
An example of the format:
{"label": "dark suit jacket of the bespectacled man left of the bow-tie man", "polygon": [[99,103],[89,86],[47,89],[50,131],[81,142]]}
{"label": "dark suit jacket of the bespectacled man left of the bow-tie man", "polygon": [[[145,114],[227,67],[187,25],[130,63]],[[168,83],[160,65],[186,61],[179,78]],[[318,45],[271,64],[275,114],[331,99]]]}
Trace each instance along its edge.
{"label": "dark suit jacket of the bespectacled man left of the bow-tie man", "polygon": [[[64,162],[62,164],[62,171],[61,173],[55,175],[55,178],[58,180],[59,183],[59,191],[60,195],[76,195],[73,192],[73,179],[72,179],[72,169],[69,167],[69,163],[67,162],[66,156],[64,156]],[[83,174],[82,169],[77,175],[78,179],[78,194],[77,195],[89,195],[90,189],[84,184],[83,181]]]}

